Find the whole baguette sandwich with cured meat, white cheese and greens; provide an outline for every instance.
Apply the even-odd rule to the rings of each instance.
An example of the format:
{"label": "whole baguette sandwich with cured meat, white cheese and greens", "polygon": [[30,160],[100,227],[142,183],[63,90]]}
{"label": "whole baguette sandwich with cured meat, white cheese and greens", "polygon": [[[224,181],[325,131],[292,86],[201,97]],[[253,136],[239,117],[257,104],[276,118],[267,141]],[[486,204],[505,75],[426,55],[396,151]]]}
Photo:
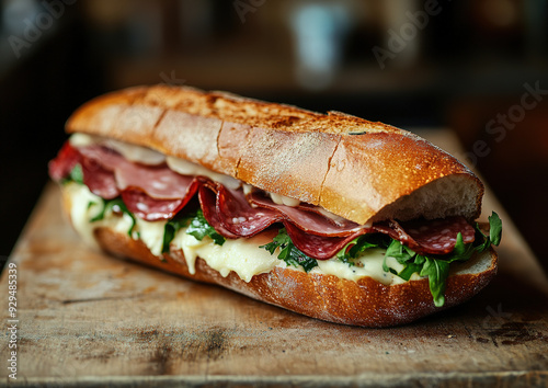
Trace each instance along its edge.
{"label": "whole baguette sandwich with cured meat, white cheese and greens", "polygon": [[66,130],[49,175],[76,231],[116,256],[363,327],[460,304],[496,273],[480,180],[389,125],[161,84],[93,99]]}

